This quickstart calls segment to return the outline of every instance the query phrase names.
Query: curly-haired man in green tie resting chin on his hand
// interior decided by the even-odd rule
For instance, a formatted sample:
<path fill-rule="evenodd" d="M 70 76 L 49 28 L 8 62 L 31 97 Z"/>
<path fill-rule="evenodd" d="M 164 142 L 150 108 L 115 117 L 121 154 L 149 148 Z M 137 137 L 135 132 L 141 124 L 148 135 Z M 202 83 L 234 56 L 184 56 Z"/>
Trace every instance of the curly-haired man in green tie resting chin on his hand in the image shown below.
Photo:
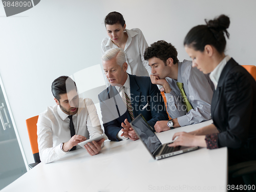
<path fill-rule="evenodd" d="M 214 84 L 192 62 L 177 58 L 176 48 L 164 40 L 154 42 L 144 52 L 151 67 L 151 81 L 163 86 L 167 112 L 172 120 L 157 121 L 156 132 L 211 119 L 210 103 Z"/>

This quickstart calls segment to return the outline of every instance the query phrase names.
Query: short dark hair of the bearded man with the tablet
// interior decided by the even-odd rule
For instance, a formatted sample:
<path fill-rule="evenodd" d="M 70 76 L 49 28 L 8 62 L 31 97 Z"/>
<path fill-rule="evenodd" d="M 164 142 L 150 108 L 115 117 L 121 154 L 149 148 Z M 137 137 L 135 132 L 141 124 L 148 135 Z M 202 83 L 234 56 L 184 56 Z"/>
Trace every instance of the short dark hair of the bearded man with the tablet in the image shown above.
<path fill-rule="evenodd" d="M 59 95 L 66 94 L 73 89 L 76 89 L 76 83 L 68 76 L 60 76 L 52 82 L 52 94 L 58 101 Z"/>

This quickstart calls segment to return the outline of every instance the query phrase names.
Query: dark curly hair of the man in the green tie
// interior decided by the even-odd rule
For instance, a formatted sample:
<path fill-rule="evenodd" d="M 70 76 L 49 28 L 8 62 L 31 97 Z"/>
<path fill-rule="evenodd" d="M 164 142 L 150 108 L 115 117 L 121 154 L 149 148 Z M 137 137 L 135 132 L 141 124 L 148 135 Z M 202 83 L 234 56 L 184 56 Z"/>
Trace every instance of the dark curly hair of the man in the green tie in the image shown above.
<path fill-rule="evenodd" d="M 165 65 L 166 65 L 166 60 L 168 58 L 172 58 L 174 60 L 174 64 L 176 64 L 179 61 L 177 56 L 178 56 L 178 52 L 176 48 L 172 44 L 164 40 L 159 40 L 157 42 L 154 42 L 154 44 L 151 44 L 150 47 L 146 48 L 144 52 L 145 60 L 151 59 L 153 57 L 157 57 L 162 61 L 164 61 Z"/>

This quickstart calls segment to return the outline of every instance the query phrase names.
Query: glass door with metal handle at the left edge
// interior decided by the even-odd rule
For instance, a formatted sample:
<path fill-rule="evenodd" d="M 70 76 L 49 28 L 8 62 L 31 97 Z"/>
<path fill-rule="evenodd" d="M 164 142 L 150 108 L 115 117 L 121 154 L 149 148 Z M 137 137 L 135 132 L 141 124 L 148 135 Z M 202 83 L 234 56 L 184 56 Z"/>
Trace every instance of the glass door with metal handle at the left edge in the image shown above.
<path fill-rule="evenodd" d="M 0 77 L 0 190 L 25 174 L 26 158 Z M 24 122 L 25 123 L 25 122 Z M 23 153 L 22 153 L 23 152 Z"/>

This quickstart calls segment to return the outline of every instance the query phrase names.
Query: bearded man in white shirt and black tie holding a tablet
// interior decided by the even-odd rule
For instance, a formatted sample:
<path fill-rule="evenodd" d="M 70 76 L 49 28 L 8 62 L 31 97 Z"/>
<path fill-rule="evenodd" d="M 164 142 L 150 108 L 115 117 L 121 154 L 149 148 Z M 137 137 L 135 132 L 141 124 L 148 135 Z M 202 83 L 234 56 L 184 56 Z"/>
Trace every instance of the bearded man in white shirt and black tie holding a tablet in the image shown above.
<path fill-rule="evenodd" d="M 75 82 L 60 76 L 52 83 L 56 105 L 48 106 L 37 121 L 37 142 L 41 162 L 56 161 L 78 143 L 103 133 L 95 105 L 91 99 L 79 98 Z M 72 130 L 72 131 L 71 131 Z M 96 155 L 104 139 L 84 145 L 88 153 Z"/>

